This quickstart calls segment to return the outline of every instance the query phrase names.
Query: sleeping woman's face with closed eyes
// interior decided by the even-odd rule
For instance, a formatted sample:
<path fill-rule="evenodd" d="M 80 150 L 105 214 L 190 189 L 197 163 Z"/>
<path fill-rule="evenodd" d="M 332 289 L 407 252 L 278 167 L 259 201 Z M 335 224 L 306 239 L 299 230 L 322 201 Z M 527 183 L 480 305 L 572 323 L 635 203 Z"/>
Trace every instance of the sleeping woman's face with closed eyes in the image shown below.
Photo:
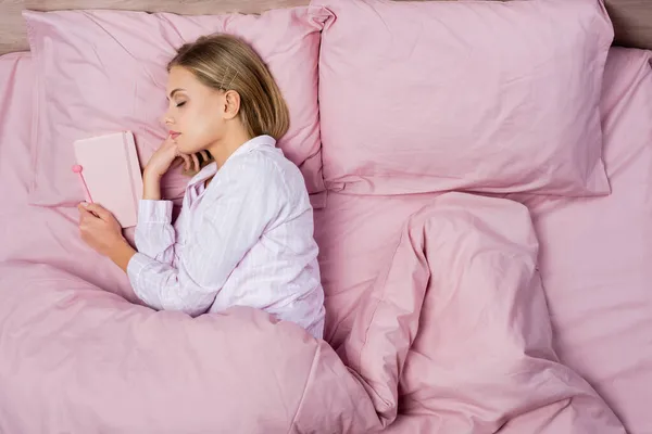
<path fill-rule="evenodd" d="M 224 135 L 224 92 L 212 89 L 181 66 L 173 66 L 167 78 L 170 100 L 164 123 L 180 152 L 208 150 Z"/>

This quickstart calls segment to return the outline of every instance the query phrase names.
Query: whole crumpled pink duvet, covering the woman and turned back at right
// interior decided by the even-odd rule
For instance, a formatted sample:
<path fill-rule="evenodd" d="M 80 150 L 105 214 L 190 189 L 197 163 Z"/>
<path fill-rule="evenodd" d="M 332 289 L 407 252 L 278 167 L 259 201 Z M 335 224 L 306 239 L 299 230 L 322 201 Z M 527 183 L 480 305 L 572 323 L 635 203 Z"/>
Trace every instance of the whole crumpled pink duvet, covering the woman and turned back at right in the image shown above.
<path fill-rule="evenodd" d="M 557 360 L 537 251 L 523 205 L 440 195 L 337 348 L 254 309 L 156 312 L 9 258 L 0 432 L 624 433 Z"/>

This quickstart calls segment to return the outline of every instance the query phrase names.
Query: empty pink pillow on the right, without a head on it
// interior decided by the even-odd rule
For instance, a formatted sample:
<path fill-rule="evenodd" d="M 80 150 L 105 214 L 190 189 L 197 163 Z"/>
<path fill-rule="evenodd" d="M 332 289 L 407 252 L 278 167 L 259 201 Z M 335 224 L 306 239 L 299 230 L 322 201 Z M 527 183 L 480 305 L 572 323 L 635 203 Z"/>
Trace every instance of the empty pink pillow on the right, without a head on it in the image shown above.
<path fill-rule="evenodd" d="M 335 15 L 319 58 L 327 187 L 610 192 L 600 1 L 314 3 Z"/>

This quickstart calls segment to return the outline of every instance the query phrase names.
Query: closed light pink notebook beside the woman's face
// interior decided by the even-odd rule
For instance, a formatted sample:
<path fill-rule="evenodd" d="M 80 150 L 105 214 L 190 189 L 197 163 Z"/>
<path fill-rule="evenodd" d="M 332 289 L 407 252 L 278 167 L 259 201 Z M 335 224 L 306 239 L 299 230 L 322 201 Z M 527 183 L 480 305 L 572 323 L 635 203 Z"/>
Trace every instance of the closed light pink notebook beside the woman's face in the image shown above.
<path fill-rule="evenodd" d="M 123 228 L 136 226 L 142 175 L 130 131 L 77 140 L 77 164 L 92 202 L 109 209 Z"/>

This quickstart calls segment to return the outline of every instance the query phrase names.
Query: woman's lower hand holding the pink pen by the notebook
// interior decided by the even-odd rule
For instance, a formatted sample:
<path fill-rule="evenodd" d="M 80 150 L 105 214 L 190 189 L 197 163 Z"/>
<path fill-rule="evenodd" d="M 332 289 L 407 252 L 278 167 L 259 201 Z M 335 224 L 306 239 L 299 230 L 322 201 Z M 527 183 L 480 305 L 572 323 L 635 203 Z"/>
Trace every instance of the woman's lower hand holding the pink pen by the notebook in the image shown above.
<path fill-rule="evenodd" d="M 127 241 L 122 234 L 122 227 L 106 208 L 98 204 L 83 203 L 79 208 L 79 234 L 96 252 L 110 256 L 121 243 Z"/>

